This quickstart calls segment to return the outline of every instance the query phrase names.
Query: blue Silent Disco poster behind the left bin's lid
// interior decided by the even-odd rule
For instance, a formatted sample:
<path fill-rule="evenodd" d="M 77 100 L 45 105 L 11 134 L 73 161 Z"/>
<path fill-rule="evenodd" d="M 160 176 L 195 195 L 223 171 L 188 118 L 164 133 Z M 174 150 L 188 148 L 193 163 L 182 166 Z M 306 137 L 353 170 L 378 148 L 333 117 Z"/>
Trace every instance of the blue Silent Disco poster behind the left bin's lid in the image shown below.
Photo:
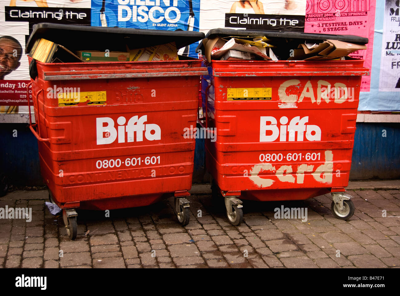
<path fill-rule="evenodd" d="M 92 26 L 199 30 L 200 0 L 92 0 Z M 179 50 L 197 57 L 197 44 Z"/>

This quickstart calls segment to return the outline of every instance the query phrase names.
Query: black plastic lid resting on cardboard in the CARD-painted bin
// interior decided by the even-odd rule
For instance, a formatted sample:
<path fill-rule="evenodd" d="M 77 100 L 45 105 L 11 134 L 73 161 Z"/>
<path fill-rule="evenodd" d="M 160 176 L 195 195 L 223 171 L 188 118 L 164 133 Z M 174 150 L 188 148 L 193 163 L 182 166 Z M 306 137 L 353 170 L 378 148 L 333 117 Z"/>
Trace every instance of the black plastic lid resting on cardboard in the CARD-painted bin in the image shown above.
<path fill-rule="evenodd" d="M 308 42 L 324 41 L 326 39 L 333 39 L 356 44 L 367 44 L 368 38 L 354 36 L 354 35 L 334 35 L 334 34 L 318 34 L 318 33 L 302 33 L 290 31 L 252 31 L 252 30 L 235 30 L 226 28 L 217 28 L 208 31 L 206 38 L 214 38 L 216 35 L 220 37 L 228 36 L 266 36 L 268 39 L 292 39 L 293 41 Z M 287 42 L 287 41 L 286 41 Z"/>

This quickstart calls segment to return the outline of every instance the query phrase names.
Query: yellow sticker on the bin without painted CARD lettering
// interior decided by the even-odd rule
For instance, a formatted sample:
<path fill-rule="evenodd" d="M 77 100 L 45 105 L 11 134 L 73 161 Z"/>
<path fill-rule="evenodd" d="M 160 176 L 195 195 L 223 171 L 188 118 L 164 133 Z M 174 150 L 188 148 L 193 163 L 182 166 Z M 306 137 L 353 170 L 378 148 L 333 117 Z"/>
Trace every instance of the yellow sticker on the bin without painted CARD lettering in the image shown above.
<path fill-rule="evenodd" d="M 106 91 L 72 91 L 58 93 L 58 106 L 74 106 L 78 103 L 87 105 L 103 105 L 106 103 Z"/>

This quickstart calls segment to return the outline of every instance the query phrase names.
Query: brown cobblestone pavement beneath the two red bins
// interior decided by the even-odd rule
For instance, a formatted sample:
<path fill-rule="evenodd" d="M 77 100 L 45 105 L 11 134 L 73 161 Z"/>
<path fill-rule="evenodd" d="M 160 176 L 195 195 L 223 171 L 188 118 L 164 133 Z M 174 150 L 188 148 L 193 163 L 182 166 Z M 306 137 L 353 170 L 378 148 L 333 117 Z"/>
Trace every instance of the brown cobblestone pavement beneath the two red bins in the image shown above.
<path fill-rule="evenodd" d="M 32 221 L 0 219 L 0 267 L 400 267 L 400 190 L 348 191 L 356 207 L 349 221 L 333 217 L 330 195 L 306 201 L 244 201 L 244 223 L 234 227 L 224 209 L 212 205 L 209 188 L 192 189 L 186 227 L 178 223 L 171 198 L 112 210 L 110 218 L 104 211 L 78 211 L 75 241 L 66 235 L 62 217 L 51 215 L 44 205 L 47 191 L 8 193 L 0 198 L 0 208 L 30 207 Z M 308 221 L 275 219 L 274 209 L 281 205 L 307 207 Z"/>

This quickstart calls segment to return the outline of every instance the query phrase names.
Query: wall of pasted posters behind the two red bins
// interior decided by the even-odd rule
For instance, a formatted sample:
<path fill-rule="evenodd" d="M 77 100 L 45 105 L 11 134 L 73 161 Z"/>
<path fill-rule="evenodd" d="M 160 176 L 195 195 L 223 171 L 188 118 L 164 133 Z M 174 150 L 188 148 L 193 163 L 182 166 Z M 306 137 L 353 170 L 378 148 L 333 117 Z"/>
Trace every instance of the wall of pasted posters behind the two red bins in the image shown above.
<path fill-rule="evenodd" d="M 367 37 L 359 110 L 400 110 L 398 0 L 0 0 L 0 113 L 27 113 L 26 41 L 40 22 L 156 30 L 289 30 Z M 334 38 L 332 38 L 334 39 Z M 68 44 L 65 44 L 68 48 Z M 179 53 L 196 57 L 197 44 Z"/>

